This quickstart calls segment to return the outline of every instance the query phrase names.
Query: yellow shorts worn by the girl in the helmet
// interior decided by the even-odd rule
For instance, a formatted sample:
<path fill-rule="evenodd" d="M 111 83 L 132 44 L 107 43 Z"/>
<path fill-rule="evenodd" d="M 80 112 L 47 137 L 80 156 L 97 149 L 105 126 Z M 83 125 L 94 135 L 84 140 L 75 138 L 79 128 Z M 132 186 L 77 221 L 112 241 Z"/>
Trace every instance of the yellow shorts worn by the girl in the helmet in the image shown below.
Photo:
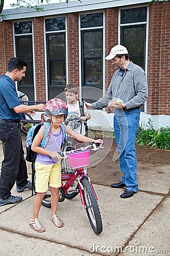
<path fill-rule="evenodd" d="M 36 192 L 44 193 L 48 187 L 61 187 L 61 161 L 55 164 L 40 164 L 35 162 Z"/>

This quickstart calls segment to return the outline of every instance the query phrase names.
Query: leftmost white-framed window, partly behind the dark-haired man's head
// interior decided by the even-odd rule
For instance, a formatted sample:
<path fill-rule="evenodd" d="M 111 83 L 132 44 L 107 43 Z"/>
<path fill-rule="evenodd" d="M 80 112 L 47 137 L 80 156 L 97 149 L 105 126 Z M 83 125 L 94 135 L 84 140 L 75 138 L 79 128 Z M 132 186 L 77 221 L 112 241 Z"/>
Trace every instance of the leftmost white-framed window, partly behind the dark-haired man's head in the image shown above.
<path fill-rule="evenodd" d="M 25 77 L 18 82 L 18 90 L 27 94 L 29 100 L 34 100 L 33 84 L 33 46 L 32 21 L 14 22 L 16 57 L 22 58 L 28 65 Z"/>

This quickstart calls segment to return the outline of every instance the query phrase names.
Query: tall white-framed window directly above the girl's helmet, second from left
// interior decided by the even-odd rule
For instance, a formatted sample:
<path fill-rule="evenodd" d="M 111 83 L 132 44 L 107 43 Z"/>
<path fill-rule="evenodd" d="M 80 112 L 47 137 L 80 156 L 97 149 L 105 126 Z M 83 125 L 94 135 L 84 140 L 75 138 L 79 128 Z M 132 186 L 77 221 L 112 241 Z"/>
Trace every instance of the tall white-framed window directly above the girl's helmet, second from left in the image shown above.
<path fill-rule="evenodd" d="M 66 20 L 45 19 L 48 98 L 62 93 L 66 86 Z"/>

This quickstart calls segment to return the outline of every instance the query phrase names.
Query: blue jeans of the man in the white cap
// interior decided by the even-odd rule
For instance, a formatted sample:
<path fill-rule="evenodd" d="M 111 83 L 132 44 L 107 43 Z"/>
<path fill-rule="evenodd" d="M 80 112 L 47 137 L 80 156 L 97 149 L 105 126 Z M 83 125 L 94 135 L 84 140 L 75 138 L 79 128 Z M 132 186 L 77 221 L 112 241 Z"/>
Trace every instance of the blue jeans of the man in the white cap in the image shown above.
<path fill-rule="evenodd" d="M 114 110 L 114 134 L 119 153 L 120 168 L 124 174 L 122 182 L 126 184 L 126 189 L 134 192 L 138 191 L 135 139 L 140 114 L 140 108 L 130 109 L 125 112 L 122 109 Z"/>

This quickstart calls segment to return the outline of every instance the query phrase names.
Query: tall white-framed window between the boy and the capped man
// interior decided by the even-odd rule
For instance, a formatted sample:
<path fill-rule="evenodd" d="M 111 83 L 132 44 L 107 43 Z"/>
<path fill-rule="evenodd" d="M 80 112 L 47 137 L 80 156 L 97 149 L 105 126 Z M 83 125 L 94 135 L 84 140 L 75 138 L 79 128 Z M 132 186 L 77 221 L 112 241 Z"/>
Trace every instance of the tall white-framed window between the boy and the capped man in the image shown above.
<path fill-rule="evenodd" d="M 81 14 L 80 36 L 82 87 L 90 86 L 101 89 L 99 95 L 101 97 L 103 90 L 103 13 Z M 82 90 L 83 98 L 84 95 Z"/>

